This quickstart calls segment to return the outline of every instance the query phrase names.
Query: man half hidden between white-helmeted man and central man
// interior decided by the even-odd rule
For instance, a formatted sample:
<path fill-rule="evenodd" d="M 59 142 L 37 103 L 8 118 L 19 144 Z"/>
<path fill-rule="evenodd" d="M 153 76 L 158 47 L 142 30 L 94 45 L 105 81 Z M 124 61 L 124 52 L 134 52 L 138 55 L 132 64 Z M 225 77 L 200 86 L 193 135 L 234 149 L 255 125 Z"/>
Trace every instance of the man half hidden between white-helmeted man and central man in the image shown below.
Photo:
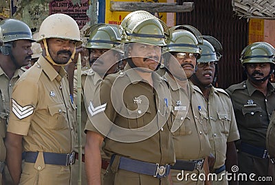
<path fill-rule="evenodd" d="M 99 87 L 102 79 L 111 73 L 116 73 L 120 69 L 120 59 L 122 58 L 122 53 L 118 49 L 113 49 L 120 45 L 121 36 L 122 36 L 122 27 L 119 25 L 111 24 L 96 24 L 92 27 L 89 27 L 89 32 L 86 33 L 86 36 L 89 36 L 86 48 L 89 50 L 89 65 L 91 69 L 87 66 L 83 67 L 81 71 L 81 87 L 82 87 L 82 98 L 81 98 L 81 125 L 82 130 L 82 146 L 83 151 L 86 143 L 86 134 L 84 133 L 85 124 L 87 122 L 87 110 L 85 108 L 85 103 L 83 99 L 83 92 L 85 90 L 85 83 L 87 84 L 87 90 L 89 90 L 89 99 L 93 99 L 94 92 Z M 109 49 L 113 49 L 109 51 Z M 111 56 L 109 59 L 104 59 L 102 54 L 106 53 L 106 56 Z M 100 58 L 102 56 L 102 58 Z M 98 60 L 98 58 L 100 58 Z M 74 73 L 74 100 L 77 100 L 77 71 Z M 76 147 L 76 164 L 73 166 L 73 178 L 72 184 L 77 184 L 78 180 L 78 149 Z M 102 155 L 102 178 L 105 170 L 109 165 L 109 158 L 104 154 Z M 81 157 L 82 164 L 82 184 L 87 184 L 87 178 L 85 174 L 85 154 Z"/>

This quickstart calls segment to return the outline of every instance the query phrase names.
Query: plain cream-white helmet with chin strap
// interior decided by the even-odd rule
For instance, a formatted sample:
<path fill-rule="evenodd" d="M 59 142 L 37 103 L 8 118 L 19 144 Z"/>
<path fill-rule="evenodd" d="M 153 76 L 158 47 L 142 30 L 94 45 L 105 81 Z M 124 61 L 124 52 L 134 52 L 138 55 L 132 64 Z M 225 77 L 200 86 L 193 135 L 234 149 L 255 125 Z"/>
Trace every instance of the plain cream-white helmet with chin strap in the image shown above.
<path fill-rule="evenodd" d="M 66 64 L 56 64 L 47 48 L 47 38 L 61 38 L 65 40 L 74 40 L 76 41 L 76 46 L 81 45 L 82 41 L 80 40 L 80 30 L 78 28 L 78 24 L 74 21 L 74 18 L 68 16 L 66 14 L 52 14 L 47 16 L 45 20 L 41 23 L 41 27 L 39 29 L 39 39 L 36 42 L 43 42 L 45 46 L 46 56 L 45 58 L 56 66 L 65 66 L 69 62 L 74 60 L 74 55 L 76 53 L 76 47 L 74 48 L 74 52 L 72 53 L 71 59 Z"/>

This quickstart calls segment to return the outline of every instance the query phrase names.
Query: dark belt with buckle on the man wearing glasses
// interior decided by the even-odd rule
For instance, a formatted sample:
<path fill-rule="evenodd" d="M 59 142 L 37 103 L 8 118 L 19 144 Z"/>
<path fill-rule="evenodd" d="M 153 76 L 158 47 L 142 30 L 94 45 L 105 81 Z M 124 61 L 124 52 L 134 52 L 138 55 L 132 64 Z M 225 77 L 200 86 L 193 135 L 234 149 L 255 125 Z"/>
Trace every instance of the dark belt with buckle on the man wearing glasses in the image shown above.
<path fill-rule="evenodd" d="M 204 159 L 201 160 L 177 160 L 171 169 L 184 170 L 184 171 L 194 171 L 195 169 L 201 170 L 203 168 Z"/>

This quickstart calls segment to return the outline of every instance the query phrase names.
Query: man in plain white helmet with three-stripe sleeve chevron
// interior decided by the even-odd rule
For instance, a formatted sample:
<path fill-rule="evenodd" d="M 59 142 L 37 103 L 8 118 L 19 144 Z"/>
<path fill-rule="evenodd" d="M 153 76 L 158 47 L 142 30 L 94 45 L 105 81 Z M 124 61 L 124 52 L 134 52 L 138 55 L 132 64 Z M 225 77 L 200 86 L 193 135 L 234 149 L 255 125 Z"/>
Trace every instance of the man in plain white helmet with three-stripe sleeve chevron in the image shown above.
<path fill-rule="evenodd" d="M 63 66 L 74 58 L 80 32 L 73 18 L 53 14 L 41 24 L 39 36 L 42 56 L 12 92 L 5 140 L 8 169 L 14 184 L 71 184 L 76 107 Z"/>

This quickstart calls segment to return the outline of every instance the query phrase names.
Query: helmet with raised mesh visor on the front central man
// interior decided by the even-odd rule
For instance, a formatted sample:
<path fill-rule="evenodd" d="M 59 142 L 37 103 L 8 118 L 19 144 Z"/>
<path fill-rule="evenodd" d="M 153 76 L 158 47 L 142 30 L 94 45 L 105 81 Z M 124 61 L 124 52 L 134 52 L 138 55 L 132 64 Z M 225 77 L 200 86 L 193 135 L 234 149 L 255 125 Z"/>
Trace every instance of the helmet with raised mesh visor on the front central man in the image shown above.
<path fill-rule="evenodd" d="M 120 25 L 124 29 L 124 43 L 142 42 L 165 46 L 169 36 L 166 23 L 142 10 L 128 14 Z"/>

